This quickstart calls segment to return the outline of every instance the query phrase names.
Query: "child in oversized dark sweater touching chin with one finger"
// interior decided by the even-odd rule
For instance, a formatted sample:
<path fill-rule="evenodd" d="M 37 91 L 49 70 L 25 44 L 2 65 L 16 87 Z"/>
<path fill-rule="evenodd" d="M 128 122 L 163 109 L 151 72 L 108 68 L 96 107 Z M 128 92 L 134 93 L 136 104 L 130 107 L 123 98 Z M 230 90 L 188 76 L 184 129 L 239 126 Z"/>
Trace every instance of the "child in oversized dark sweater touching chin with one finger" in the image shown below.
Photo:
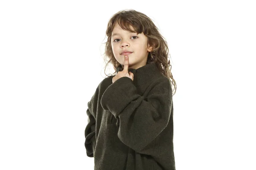
<path fill-rule="evenodd" d="M 105 56 L 116 74 L 103 79 L 87 103 L 84 145 L 94 170 L 175 170 L 176 83 L 167 42 L 135 10 L 114 14 L 106 34 Z"/>

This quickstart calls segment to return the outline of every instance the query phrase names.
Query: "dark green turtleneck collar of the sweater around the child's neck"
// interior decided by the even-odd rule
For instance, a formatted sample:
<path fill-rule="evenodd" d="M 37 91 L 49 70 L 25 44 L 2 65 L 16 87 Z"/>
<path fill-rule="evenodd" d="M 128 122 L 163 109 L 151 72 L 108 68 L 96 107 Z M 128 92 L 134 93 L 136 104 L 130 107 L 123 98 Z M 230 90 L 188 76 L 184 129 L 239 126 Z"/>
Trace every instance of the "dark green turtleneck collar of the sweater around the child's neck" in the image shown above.
<path fill-rule="evenodd" d="M 122 65 L 119 64 L 116 68 L 116 74 L 118 71 L 122 71 Z M 155 62 L 148 63 L 140 68 L 128 68 L 128 72 L 131 71 L 134 74 L 134 85 L 136 86 L 143 86 L 146 85 L 148 81 L 159 77 L 161 72 L 158 70 L 157 65 Z"/>

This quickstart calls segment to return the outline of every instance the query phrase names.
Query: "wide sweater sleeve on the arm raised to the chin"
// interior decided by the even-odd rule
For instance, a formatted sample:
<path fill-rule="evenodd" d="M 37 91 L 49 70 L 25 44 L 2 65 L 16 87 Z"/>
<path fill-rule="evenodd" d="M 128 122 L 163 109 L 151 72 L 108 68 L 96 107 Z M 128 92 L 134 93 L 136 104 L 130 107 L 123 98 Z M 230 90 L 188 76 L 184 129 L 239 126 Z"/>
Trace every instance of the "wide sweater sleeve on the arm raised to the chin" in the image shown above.
<path fill-rule="evenodd" d="M 169 122 L 172 88 L 168 80 L 155 80 L 140 95 L 129 77 L 121 77 L 102 95 L 102 108 L 117 119 L 119 139 L 138 153 L 152 153 L 154 139 Z"/>

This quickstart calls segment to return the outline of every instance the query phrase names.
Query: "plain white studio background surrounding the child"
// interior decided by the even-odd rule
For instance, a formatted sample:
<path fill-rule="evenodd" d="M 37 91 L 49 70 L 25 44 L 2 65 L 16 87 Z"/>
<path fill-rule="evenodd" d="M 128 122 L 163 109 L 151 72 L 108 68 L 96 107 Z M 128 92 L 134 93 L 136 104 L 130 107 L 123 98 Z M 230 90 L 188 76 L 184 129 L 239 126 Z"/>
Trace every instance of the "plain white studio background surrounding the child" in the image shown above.
<path fill-rule="evenodd" d="M 169 45 L 176 169 L 256 170 L 255 8 L 253 0 L 0 1 L 0 169 L 93 170 L 84 129 L 106 77 L 107 23 L 134 9 Z"/>

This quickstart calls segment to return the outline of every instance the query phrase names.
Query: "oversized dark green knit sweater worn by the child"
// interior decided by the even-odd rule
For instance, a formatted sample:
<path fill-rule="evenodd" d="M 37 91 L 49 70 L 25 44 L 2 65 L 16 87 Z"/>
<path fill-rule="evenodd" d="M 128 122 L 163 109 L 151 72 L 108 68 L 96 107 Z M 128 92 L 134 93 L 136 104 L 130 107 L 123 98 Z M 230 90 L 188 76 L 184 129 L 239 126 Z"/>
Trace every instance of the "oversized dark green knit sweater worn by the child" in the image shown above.
<path fill-rule="evenodd" d="M 87 156 L 94 170 L 175 170 L 171 81 L 154 62 L 128 71 L 134 80 L 103 79 L 87 104 Z"/>

